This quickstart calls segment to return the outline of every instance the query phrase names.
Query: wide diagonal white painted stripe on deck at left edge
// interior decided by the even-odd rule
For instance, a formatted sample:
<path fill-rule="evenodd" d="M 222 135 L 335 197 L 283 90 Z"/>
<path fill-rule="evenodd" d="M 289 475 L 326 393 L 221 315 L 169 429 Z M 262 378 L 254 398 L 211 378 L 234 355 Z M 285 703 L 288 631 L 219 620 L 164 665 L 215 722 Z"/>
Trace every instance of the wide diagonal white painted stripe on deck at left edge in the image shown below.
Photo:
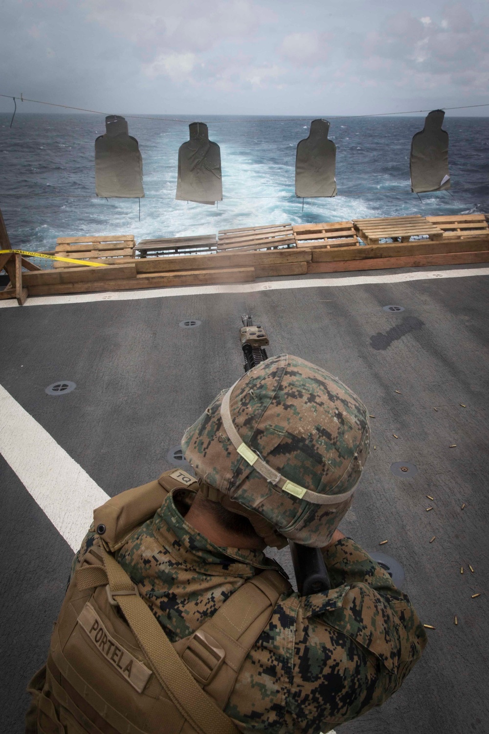
<path fill-rule="evenodd" d="M 78 551 L 92 524 L 93 509 L 109 495 L 1 385 L 0 454 L 56 530 Z"/>

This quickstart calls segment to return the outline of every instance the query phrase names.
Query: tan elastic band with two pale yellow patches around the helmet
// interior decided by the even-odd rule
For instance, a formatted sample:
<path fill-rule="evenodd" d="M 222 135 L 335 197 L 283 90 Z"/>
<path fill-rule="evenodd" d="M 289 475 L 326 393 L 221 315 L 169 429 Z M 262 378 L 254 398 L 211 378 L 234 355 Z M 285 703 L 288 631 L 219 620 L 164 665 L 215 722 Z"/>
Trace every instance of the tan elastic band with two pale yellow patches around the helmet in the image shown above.
<path fill-rule="evenodd" d="M 280 472 L 271 468 L 271 466 L 260 459 L 258 454 L 255 454 L 252 448 L 246 446 L 246 443 L 243 442 L 238 431 L 235 429 L 235 425 L 233 424 L 231 418 L 231 410 L 229 408 L 232 390 L 235 389 L 236 385 L 238 385 L 238 382 L 240 382 L 239 379 L 235 382 L 234 385 L 229 388 L 226 395 L 222 399 L 221 419 L 224 429 L 227 432 L 227 435 L 229 436 L 232 445 L 235 447 L 236 451 L 238 451 L 238 454 L 240 454 L 240 457 L 243 457 L 243 459 L 248 462 L 249 465 L 254 468 L 254 470 L 265 477 L 268 482 L 271 482 L 271 484 L 273 484 L 275 487 L 279 487 L 282 492 L 287 492 L 288 494 L 293 495 L 294 497 L 298 497 L 301 500 L 306 500 L 307 502 L 311 502 L 312 504 L 319 505 L 337 505 L 342 504 L 342 502 L 348 500 L 351 495 L 353 495 L 355 487 L 352 487 L 350 490 L 348 490 L 348 492 L 344 492 L 341 495 L 322 495 L 318 492 L 312 492 L 312 490 L 307 490 L 306 487 L 301 487 L 300 484 L 290 482 L 290 479 L 286 479 L 284 476 L 282 476 Z"/>

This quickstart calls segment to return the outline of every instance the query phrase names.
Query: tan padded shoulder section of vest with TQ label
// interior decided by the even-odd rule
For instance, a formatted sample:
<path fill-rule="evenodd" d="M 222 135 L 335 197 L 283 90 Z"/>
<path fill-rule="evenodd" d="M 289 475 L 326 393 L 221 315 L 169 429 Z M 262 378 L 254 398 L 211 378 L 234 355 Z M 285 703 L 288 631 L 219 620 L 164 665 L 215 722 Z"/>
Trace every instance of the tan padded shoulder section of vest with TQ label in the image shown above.
<path fill-rule="evenodd" d="M 182 469 L 172 469 L 155 482 L 121 492 L 93 511 L 95 531 L 110 551 L 118 551 L 133 531 L 155 514 L 166 495 L 185 488 L 196 491 L 196 479 Z"/>

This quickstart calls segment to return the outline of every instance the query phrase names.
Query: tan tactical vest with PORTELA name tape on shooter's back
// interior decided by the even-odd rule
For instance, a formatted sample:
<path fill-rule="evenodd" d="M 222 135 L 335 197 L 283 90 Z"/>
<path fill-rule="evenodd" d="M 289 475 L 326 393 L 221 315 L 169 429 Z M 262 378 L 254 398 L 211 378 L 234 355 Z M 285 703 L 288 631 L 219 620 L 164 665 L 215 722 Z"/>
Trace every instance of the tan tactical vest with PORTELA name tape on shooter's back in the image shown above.
<path fill-rule="evenodd" d="M 95 510 L 98 542 L 80 559 L 48 661 L 29 683 L 27 734 L 238 734 L 224 707 L 290 586 L 265 570 L 191 636 L 169 642 L 113 553 L 180 487 L 197 485 L 180 469 L 165 472 Z"/>

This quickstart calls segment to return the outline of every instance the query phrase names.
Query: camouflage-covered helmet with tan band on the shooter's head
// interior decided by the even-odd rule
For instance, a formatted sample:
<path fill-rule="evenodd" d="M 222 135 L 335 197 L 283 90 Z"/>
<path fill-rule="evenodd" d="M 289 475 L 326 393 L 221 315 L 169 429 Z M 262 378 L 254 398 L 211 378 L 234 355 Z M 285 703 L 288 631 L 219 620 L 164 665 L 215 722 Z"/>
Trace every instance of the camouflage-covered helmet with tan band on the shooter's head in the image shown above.
<path fill-rule="evenodd" d="M 271 357 L 223 390 L 185 432 L 206 496 L 249 517 L 267 545 L 326 545 L 369 452 L 367 409 L 299 357 Z"/>

